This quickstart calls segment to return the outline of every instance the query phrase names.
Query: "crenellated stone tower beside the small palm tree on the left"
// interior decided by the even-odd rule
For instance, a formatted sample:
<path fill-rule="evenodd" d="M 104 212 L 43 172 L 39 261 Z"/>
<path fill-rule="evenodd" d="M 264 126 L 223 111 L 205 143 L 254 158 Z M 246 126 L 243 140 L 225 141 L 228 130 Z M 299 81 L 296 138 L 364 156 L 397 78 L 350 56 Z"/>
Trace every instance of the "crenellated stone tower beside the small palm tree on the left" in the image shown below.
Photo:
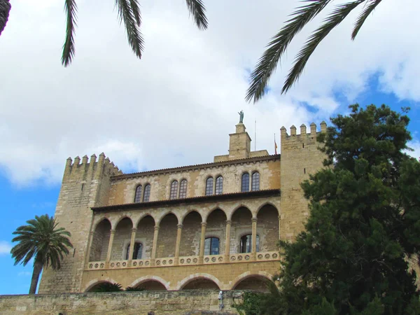
<path fill-rule="evenodd" d="M 110 178 L 119 174 L 123 172 L 104 153 L 98 159 L 92 155 L 90 160 L 85 155 L 81 163 L 78 156 L 66 160 L 55 218 L 59 227 L 71 232 L 73 249 L 59 272 L 44 269 L 39 293 L 79 292 L 92 222 L 90 208 L 106 204 Z"/>

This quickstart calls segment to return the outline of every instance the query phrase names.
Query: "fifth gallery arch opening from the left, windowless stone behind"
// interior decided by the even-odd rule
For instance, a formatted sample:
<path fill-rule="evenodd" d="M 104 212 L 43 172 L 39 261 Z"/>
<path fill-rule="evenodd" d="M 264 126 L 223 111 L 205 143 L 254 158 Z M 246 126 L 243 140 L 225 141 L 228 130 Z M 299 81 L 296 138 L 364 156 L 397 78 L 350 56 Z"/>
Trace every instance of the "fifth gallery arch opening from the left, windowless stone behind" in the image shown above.
<path fill-rule="evenodd" d="M 202 217 L 197 211 L 192 211 L 183 219 L 180 256 L 198 255 L 200 248 Z"/>

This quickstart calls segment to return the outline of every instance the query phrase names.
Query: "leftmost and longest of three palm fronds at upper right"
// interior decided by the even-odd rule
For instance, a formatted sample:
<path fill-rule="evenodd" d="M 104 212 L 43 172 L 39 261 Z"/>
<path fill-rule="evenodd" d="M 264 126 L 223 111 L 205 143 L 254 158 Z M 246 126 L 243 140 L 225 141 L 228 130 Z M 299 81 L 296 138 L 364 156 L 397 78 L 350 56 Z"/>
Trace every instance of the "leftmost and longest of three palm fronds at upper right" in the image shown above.
<path fill-rule="evenodd" d="M 258 60 L 258 64 L 251 73 L 251 83 L 246 92 L 248 102 L 258 102 L 265 94 L 265 88 L 269 78 L 276 69 L 281 56 L 288 48 L 290 41 L 307 25 L 312 19 L 320 13 L 332 0 L 306 0 L 307 5 L 300 6 L 292 13 L 293 18 L 286 21 L 286 25 L 281 28 L 279 33 L 272 38 L 267 45 L 267 50 Z"/>

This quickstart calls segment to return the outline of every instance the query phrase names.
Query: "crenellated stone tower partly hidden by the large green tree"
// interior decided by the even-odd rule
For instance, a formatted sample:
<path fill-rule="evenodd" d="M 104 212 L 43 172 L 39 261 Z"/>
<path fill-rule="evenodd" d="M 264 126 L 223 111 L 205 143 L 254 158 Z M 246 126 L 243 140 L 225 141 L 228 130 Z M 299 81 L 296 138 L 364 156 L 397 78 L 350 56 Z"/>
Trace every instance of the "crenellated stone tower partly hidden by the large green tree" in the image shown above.
<path fill-rule="evenodd" d="M 327 124 L 321 123 L 321 132 L 326 132 Z M 309 215 L 308 201 L 304 198 L 300 183 L 309 179 L 323 166 L 325 154 L 318 150 L 321 146 L 316 141 L 320 132 L 311 123 L 307 133 L 305 125 L 290 127 L 290 135 L 281 127 L 281 239 L 292 241 L 302 231 Z"/>

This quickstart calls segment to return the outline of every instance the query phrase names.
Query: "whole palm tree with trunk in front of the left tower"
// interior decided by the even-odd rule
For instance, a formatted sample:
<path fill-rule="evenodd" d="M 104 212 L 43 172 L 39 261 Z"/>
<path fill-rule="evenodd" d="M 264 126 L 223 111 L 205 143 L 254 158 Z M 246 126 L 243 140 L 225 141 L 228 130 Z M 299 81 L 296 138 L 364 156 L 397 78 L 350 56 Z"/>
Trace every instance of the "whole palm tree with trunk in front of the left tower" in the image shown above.
<path fill-rule="evenodd" d="M 43 267 L 59 269 L 63 254 L 69 253 L 72 248 L 70 232 L 64 228 L 57 228 L 55 218 L 48 214 L 35 216 L 34 219 L 27 221 L 28 225 L 22 225 L 13 232 L 18 235 L 12 241 L 18 241 L 10 251 L 12 258 L 15 258 L 15 265 L 22 263 L 27 265 L 29 260 L 34 258 L 34 272 L 32 272 L 31 288 L 29 294 L 35 294 L 38 284 L 39 274 Z"/>

